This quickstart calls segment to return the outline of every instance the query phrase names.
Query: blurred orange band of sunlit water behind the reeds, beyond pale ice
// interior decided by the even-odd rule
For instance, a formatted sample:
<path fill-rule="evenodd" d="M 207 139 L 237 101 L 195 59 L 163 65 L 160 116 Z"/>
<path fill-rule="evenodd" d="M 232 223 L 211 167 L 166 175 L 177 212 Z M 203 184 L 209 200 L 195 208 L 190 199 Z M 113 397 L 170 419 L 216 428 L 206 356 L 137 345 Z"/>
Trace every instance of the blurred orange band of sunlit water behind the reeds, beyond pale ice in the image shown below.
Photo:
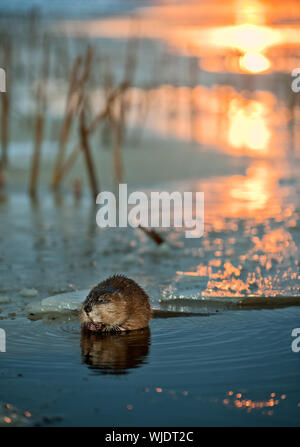
<path fill-rule="evenodd" d="M 151 97 L 146 118 L 141 108 Z M 97 96 L 93 95 L 96 100 Z M 289 112 L 271 92 L 237 92 L 215 85 L 162 85 L 128 92 L 130 124 L 163 137 L 197 142 L 233 155 L 284 157 L 289 138 Z"/>

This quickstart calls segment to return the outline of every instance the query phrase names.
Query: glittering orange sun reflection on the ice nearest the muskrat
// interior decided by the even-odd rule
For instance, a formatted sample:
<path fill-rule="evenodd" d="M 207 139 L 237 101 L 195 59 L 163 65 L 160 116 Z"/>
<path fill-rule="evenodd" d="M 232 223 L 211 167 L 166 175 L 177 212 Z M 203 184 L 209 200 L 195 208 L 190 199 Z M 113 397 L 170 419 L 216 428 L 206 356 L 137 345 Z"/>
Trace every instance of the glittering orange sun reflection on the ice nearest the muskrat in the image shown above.
<path fill-rule="evenodd" d="M 197 299 L 299 295 L 299 213 L 280 184 L 284 176 L 284 165 L 264 160 L 245 176 L 198 183 L 206 199 L 205 235 L 166 299 L 185 287 L 185 296 Z"/>

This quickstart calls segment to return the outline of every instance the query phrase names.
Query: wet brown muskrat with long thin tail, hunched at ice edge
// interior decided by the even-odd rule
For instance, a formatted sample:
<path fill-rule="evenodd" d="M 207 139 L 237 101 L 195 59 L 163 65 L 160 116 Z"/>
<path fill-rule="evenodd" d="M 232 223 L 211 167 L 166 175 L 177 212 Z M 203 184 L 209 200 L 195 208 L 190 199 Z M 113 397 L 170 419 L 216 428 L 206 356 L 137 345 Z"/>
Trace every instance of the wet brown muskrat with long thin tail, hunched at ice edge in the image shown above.
<path fill-rule="evenodd" d="M 143 329 L 151 318 L 208 315 L 151 309 L 147 293 L 124 275 L 113 275 L 93 287 L 80 310 L 81 326 L 91 332 Z"/>

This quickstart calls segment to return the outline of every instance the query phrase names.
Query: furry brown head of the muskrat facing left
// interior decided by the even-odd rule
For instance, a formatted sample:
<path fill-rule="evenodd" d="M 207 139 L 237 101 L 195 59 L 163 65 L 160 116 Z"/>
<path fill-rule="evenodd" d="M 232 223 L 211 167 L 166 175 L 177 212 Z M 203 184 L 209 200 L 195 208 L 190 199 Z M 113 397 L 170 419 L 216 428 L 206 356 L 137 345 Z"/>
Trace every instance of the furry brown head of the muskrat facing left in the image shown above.
<path fill-rule="evenodd" d="M 82 303 L 80 320 L 90 331 L 122 331 L 128 317 L 127 303 L 113 287 L 95 286 Z"/>

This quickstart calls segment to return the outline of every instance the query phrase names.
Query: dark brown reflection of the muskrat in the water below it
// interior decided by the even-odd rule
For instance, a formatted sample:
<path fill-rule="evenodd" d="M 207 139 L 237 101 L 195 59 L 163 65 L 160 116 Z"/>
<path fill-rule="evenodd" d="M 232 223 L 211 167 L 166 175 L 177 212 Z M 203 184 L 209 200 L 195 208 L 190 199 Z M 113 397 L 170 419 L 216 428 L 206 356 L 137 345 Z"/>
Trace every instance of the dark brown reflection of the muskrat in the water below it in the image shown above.
<path fill-rule="evenodd" d="M 150 329 L 119 332 L 81 332 L 83 363 L 102 374 L 126 374 L 145 363 L 150 346 Z"/>

